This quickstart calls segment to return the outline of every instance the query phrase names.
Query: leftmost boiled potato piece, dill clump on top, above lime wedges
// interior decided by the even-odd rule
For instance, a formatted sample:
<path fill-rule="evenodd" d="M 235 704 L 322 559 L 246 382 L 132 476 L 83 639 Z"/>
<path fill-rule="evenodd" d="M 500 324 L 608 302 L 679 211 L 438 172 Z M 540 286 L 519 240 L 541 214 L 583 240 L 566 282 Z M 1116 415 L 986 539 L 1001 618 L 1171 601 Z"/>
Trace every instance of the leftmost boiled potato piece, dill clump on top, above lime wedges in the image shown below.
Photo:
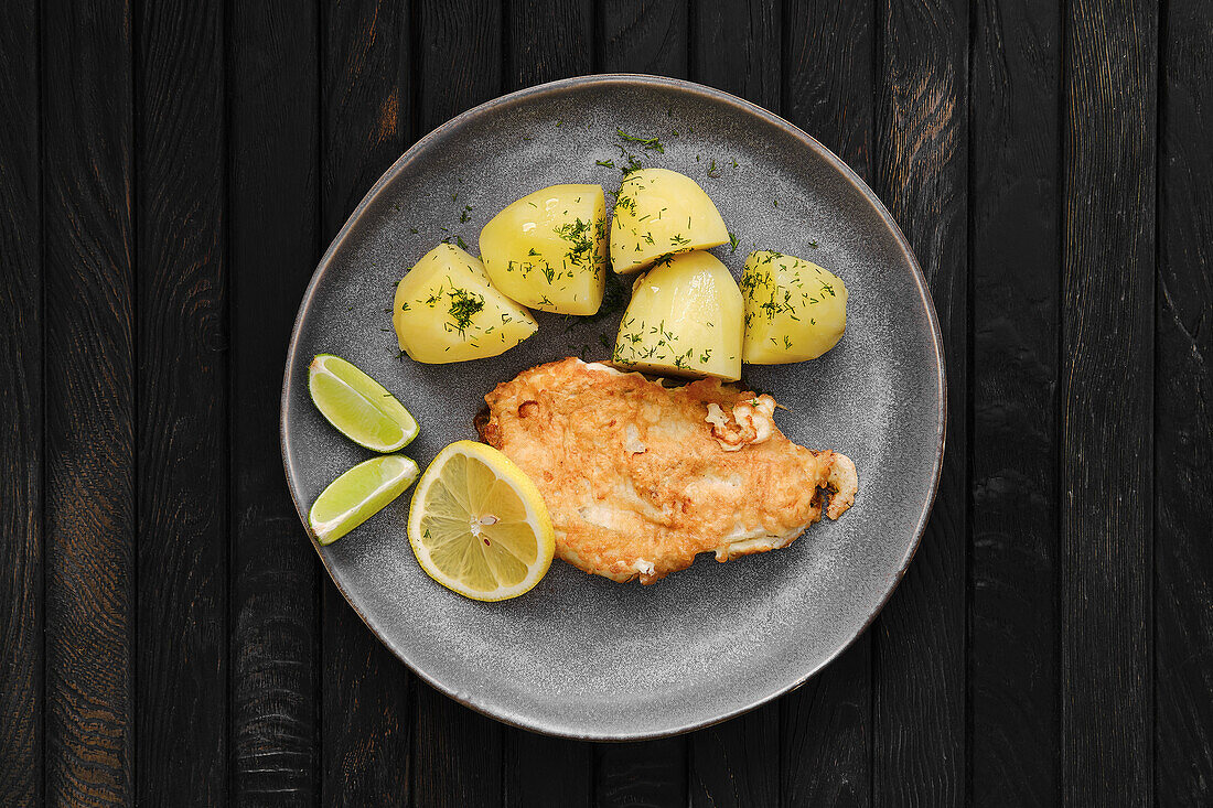
<path fill-rule="evenodd" d="M 539 328 L 492 288 L 479 258 L 452 244 L 427 252 L 397 284 L 392 325 L 400 349 L 427 364 L 496 357 Z"/>

